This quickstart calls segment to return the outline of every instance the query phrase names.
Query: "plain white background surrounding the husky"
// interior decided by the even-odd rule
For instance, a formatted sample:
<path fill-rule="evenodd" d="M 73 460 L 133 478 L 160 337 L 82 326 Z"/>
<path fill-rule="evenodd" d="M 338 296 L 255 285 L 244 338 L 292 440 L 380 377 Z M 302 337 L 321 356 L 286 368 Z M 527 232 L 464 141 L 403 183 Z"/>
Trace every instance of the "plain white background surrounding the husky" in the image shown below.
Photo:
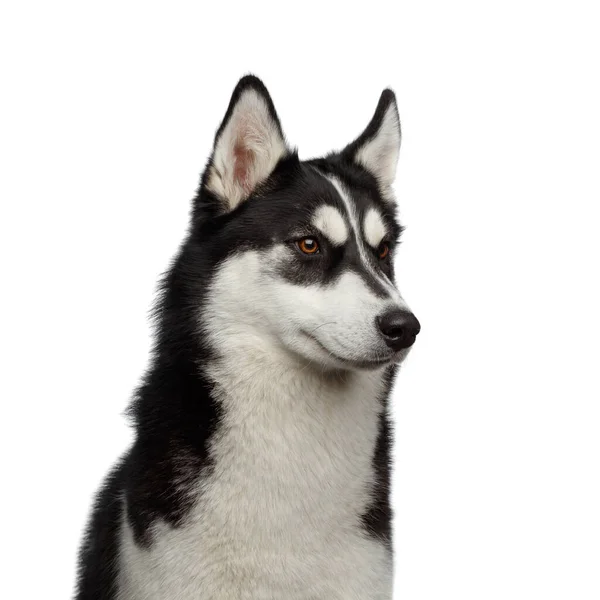
<path fill-rule="evenodd" d="M 594 4 L 5 3 L 0 597 L 71 593 L 157 278 L 252 71 L 302 157 L 397 93 L 423 331 L 393 401 L 396 597 L 600 598 Z"/>

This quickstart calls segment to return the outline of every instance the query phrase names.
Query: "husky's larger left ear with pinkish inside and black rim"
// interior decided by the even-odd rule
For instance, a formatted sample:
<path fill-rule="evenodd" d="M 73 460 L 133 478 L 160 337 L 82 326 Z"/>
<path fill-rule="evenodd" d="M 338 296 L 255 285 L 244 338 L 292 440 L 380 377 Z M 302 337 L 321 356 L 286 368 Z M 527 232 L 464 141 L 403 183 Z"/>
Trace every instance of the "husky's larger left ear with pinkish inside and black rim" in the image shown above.
<path fill-rule="evenodd" d="M 290 153 L 267 88 L 258 77 L 240 79 L 215 136 L 203 186 L 219 212 L 234 210 Z"/>

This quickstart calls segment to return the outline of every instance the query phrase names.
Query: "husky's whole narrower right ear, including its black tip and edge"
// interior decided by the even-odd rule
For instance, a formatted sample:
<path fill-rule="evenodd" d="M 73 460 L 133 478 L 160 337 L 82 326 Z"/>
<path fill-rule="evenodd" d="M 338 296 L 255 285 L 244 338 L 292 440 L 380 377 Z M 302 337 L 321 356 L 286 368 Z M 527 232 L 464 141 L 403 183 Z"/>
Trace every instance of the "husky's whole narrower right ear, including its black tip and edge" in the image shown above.
<path fill-rule="evenodd" d="M 342 155 L 375 175 L 384 197 L 390 195 L 390 186 L 396 178 L 400 154 L 400 118 L 396 96 L 392 90 L 383 90 L 375 114 L 367 128 Z"/>

